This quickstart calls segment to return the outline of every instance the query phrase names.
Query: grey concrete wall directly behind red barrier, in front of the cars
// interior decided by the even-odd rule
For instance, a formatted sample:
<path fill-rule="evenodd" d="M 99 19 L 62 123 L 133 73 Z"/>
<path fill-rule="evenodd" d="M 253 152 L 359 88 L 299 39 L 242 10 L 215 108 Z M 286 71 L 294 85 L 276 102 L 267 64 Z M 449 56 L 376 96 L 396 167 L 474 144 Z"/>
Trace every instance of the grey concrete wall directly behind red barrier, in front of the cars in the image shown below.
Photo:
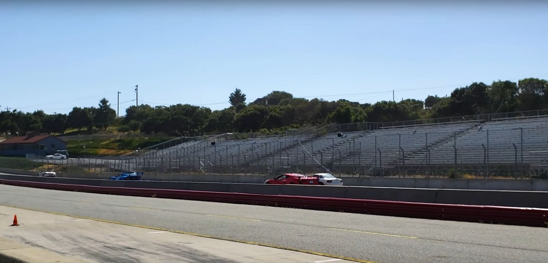
<path fill-rule="evenodd" d="M 114 181 L 97 179 L 44 178 L 25 175 L 0 175 L 0 179 L 108 187 L 160 188 L 193 191 L 255 193 L 260 195 L 338 197 L 419 203 L 548 208 L 548 192 L 535 191 L 454 190 L 366 186 L 330 187 L 310 185 L 239 184 L 226 182 Z"/>

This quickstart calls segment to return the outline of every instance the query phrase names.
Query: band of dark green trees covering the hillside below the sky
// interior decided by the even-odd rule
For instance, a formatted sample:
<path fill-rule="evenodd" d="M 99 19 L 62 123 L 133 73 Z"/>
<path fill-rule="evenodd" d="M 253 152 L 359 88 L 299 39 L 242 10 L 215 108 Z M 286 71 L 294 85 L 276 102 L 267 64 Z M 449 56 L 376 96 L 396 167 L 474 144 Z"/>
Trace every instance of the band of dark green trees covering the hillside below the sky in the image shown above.
<path fill-rule="evenodd" d="M 545 79 L 524 78 L 518 82 L 473 82 L 456 88 L 450 96 L 430 95 L 425 100 L 405 99 L 362 104 L 351 100 L 295 98 L 274 91 L 248 104 L 246 94 L 236 89 L 229 95 L 231 106 L 218 111 L 208 107 L 177 104 L 150 106 L 141 104 L 125 110 L 125 118 L 116 118 L 106 99 L 98 107 L 74 107 L 68 114 L 47 115 L 43 111 L 0 112 L 0 133 L 24 134 L 30 131 L 64 134 L 92 130 L 110 130 L 132 135 L 132 132 L 165 133 L 171 136 L 197 136 L 231 132 L 282 133 L 288 128 L 330 123 L 393 122 L 500 113 L 543 110 L 548 108 L 548 85 Z M 383 93 L 383 92 L 378 92 Z M 386 93 L 386 91 L 384 92 Z M 89 134 L 89 132 L 88 132 Z M 131 142 L 130 142 L 131 141 Z M 104 142 L 115 148 L 116 142 Z M 138 146 L 139 139 L 119 142 L 116 150 Z M 71 143 L 71 148 L 73 144 Z M 88 147 L 88 146 L 87 146 Z M 93 146 L 99 147 L 99 146 Z M 75 147 L 76 148 L 76 147 Z M 102 149 L 110 149 L 101 146 Z M 98 148 L 99 149 L 99 148 Z M 111 149 L 115 150 L 115 149 Z"/>

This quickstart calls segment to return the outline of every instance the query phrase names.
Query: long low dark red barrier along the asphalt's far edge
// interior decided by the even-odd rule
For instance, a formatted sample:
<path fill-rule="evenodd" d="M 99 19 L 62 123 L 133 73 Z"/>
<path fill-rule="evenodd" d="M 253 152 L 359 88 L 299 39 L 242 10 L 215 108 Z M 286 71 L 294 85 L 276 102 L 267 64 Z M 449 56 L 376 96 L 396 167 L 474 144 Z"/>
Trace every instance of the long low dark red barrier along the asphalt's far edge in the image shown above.
<path fill-rule="evenodd" d="M 432 204 L 367 199 L 306 197 L 283 195 L 256 195 L 250 193 L 205 192 L 170 189 L 102 187 L 87 185 L 50 184 L 0 179 L 1 184 L 45 188 L 64 191 L 104 193 L 110 195 L 143 196 L 172 199 L 189 199 L 221 203 L 269 205 L 301 209 L 344 211 L 347 213 L 404 216 L 484 222 L 494 224 L 546 227 L 548 209 L 494 207 L 482 205 Z"/>

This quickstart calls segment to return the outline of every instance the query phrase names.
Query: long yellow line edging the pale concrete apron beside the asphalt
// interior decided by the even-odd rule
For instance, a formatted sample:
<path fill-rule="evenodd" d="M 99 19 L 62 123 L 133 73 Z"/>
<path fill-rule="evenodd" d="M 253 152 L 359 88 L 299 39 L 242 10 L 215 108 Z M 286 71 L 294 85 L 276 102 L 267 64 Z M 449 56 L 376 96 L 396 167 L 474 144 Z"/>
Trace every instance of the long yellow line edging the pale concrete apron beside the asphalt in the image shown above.
<path fill-rule="evenodd" d="M 52 211 L 43 211 L 43 210 L 38 210 L 38 209 L 28 209 L 28 208 L 16 207 L 15 205 L 8 205 L 8 204 L 0 204 L 0 205 L 2 205 L 4 207 L 31 210 L 31 211 L 37 211 L 37 212 L 42 212 L 42 213 L 54 214 L 54 215 L 71 216 L 72 218 L 90 219 L 90 220 L 95 220 L 95 221 L 99 221 L 99 222 L 111 223 L 111 224 L 148 228 L 148 229 L 158 230 L 158 231 L 167 231 L 167 232 L 179 233 L 179 234 L 190 235 L 190 236 L 195 236 L 195 237 L 206 237 L 206 238 L 213 238 L 213 239 L 219 239 L 219 240 L 224 240 L 224 241 L 232 241 L 232 242 L 238 242 L 238 243 L 244 243 L 244 244 L 250 244 L 250 245 L 261 245 L 262 247 L 278 248 L 278 249 L 296 251 L 296 252 L 301 252 L 301 253 L 306 253 L 306 254 L 326 256 L 327 258 L 343 259 L 343 260 L 349 260 L 349 261 L 360 262 L 360 263 L 381 263 L 381 262 L 376 262 L 376 261 L 349 258 L 347 256 L 330 255 L 330 254 L 325 254 L 325 253 L 320 253 L 320 252 L 315 252 L 315 251 L 309 251 L 309 250 L 296 249 L 296 248 L 286 248 L 286 247 L 281 247 L 279 245 L 271 245 L 271 244 L 243 241 L 243 240 L 239 240 L 239 239 L 231 239 L 231 238 L 224 238 L 224 237 L 208 236 L 208 235 L 202 235 L 202 234 L 197 234 L 197 233 L 169 230 L 169 229 L 165 229 L 165 228 L 152 227 L 152 226 L 140 226 L 140 225 L 134 225 L 134 224 L 127 224 L 127 223 L 123 223 L 123 222 L 111 221 L 111 220 L 88 218 L 86 216 L 68 215 L 68 214 L 57 213 L 57 212 L 52 212 Z"/>

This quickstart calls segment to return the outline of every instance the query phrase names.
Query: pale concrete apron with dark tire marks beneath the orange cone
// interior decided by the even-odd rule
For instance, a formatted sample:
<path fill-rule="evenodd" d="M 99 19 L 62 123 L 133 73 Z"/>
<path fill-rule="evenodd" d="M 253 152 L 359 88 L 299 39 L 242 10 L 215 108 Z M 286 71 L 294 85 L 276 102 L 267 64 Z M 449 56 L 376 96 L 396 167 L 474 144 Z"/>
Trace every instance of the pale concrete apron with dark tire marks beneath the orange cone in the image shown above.
<path fill-rule="evenodd" d="M 0 225 L 0 236 L 87 262 L 351 262 L 279 248 L 0 206 L 1 221 L 13 219 L 14 214 L 18 216 L 20 226 Z"/>

